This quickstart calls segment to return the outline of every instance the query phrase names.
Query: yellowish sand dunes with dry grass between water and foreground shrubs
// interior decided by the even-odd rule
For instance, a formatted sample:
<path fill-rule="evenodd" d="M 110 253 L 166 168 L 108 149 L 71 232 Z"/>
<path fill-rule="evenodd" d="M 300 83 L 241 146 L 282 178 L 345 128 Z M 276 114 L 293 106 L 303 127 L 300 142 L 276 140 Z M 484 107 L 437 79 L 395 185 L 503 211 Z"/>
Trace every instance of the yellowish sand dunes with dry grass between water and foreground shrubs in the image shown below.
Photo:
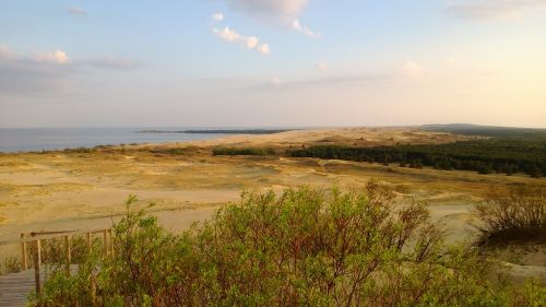
<path fill-rule="evenodd" d="M 92 153 L 0 154 L 0 259 L 16 253 L 13 243 L 22 232 L 111 225 L 123 214 L 123 201 L 129 194 L 139 198 L 134 210 L 154 203 L 150 211 L 162 225 L 180 232 L 195 221 L 209 219 L 223 204 L 238 201 L 246 189 L 281 191 L 301 185 L 348 189 L 363 187 L 370 179 L 391 186 L 401 199 L 429 203 L 432 219 L 449 229 L 450 241 L 468 240 L 475 234 L 470 226 L 471 210 L 491 187 L 545 180 L 344 161 L 211 154 L 212 147 L 218 145 L 283 150 L 312 144 L 371 146 L 467 139 L 416 128 L 340 128 L 132 145 L 123 150 L 106 147 Z M 170 149 L 181 149 L 182 154 L 169 154 Z M 524 275 L 543 272 L 520 271 Z"/>

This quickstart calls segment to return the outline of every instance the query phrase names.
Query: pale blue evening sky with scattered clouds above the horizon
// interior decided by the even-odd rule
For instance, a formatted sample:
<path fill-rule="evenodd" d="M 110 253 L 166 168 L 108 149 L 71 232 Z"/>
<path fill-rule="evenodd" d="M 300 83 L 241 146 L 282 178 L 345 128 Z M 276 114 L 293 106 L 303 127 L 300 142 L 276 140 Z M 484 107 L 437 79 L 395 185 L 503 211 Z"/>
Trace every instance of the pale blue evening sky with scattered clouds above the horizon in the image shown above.
<path fill-rule="evenodd" d="M 0 0 L 0 128 L 546 128 L 546 0 Z"/>

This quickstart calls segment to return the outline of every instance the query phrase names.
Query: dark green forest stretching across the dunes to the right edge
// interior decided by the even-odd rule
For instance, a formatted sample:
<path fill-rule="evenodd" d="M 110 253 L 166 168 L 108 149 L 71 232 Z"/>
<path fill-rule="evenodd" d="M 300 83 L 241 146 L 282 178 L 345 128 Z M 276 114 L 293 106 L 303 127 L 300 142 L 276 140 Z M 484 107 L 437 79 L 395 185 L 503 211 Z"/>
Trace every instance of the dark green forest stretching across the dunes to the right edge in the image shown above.
<path fill-rule="evenodd" d="M 523 173 L 546 175 L 546 137 L 502 137 L 448 144 L 349 147 L 319 145 L 287 151 L 292 157 L 319 157 L 391 164 L 402 167 L 424 166 L 446 170 L 475 170 L 479 174 Z"/>

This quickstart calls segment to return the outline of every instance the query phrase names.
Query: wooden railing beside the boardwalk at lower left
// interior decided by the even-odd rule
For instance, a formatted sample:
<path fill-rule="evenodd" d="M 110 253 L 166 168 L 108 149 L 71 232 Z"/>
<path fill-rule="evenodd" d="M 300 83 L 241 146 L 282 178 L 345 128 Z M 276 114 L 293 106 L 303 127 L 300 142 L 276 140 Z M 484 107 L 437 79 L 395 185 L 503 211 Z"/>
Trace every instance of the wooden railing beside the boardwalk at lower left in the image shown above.
<path fill-rule="evenodd" d="M 104 241 L 104 256 L 114 256 L 114 240 L 111 237 L 111 228 L 99 228 L 91 231 L 61 231 L 61 232 L 32 232 L 21 234 L 21 267 L 22 270 L 28 270 L 27 247 L 32 248 L 32 261 L 34 264 L 34 279 L 36 281 L 36 294 L 41 293 L 41 243 L 49 239 L 63 238 L 64 239 L 64 270 L 67 275 L 70 275 L 71 251 L 70 239 L 72 236 L 85 235 L 87 243 L 87 251 L 91 253 L 93 250 L 93 235 L 102 234 Z"/>

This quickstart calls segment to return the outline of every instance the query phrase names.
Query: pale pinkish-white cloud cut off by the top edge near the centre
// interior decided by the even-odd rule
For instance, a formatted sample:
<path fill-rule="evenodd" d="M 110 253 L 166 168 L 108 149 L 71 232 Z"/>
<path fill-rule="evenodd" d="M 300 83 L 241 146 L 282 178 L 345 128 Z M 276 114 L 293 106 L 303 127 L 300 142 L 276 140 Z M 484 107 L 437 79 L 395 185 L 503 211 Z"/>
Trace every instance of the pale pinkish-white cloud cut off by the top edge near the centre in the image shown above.
<path fill-rule="evenodd" d="M 233 10 L 249 14 L 265 14 L 281 19 L 297 16 L 308 0 L 224 0 Z"/>

